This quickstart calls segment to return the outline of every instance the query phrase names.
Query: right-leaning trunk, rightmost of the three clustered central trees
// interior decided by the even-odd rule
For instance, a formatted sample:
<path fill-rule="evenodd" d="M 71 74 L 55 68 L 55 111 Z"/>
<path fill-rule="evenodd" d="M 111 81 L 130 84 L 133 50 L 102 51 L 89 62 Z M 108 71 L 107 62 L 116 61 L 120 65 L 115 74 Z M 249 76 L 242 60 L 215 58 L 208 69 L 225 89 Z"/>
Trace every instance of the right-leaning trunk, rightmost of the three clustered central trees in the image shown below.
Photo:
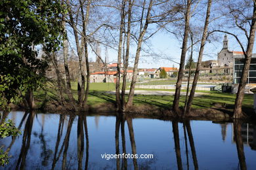
<path fill-rule="evenodd" d="M 148 24 L 149 24 L 149 19 L 150 19 L 150 11 L 152 9 L 152 5 L 153 5 L 153 1 L 150 0 L 150 4 L 148 6 L 148 12 L 146 14 L 146 22 L 145 22 L 144 27 L 143 27 L 142 31 L 140 32 L 140 36 L 139 36 L 139 42 L 138 42 L 138 45 L 137 45 L 136 56 L 135 56 L 135 63 L 134 63 L 134 67 L 133 67 L 133 78 L 131 80 L 130 92 L 129 92 L 129 95 L 128 95 L 128 101 L 127 101 L 125 109 L 127 109 L 127 107 L 131 107 L 133 105 L 135 84 L 136 84 L 137 76 L 138 76 L 138 65 L 139 65 L 139 58 L 140 58 L 140 50 L 141 50 L 141 46 L 142 46 L 142 42 L 143 42 L 143 37 L 146 33 L 146 30 L 148 29 Z M 142 20 L 142 18 L 141 18 L 141 20 Z"/>

